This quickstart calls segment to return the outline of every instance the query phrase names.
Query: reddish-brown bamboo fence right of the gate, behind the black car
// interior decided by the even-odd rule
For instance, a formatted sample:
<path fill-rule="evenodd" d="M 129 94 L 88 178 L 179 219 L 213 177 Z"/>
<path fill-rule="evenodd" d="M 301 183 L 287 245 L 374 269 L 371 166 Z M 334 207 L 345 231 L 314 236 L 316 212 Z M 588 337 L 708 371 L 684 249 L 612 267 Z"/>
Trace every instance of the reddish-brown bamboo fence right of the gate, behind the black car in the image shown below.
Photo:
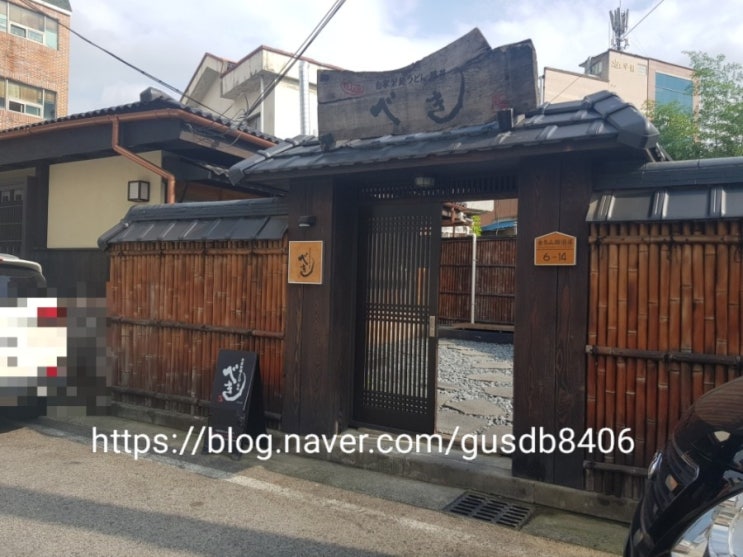
<path fill-rule="evenodd" d="M 637 498 L 682 412 L 741 374 L 741 222 L 593 224 L 589 241 L 587 427 L 629 428 L 635 450 L 589 455 L 586 487 Z"/>

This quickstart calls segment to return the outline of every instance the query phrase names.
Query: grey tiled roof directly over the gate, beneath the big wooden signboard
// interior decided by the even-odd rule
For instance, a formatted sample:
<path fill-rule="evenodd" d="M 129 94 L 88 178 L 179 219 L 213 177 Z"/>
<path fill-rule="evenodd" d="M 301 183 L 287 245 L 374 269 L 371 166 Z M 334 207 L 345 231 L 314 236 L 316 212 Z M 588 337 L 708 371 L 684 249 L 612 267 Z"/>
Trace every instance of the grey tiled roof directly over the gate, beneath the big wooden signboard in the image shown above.
<path fill-rule="evenodd" d="M 438 132 L 337 143 L 331 140 L 329 145 L 323 145 L 315 137 L 298 137 L 237 163 L 230 169 L 230 180 L 237 184 L 246 176 L 255 179 L 516 147 L 539 148 L 560 143 L 587 145 L 598 140 L 613 140 L 618 145 L 650 150 L 657 145 L 658 131 L 634 106 L 603 91 L 582 101 L 542 105 L 512 127 L 495 121 Z"/>

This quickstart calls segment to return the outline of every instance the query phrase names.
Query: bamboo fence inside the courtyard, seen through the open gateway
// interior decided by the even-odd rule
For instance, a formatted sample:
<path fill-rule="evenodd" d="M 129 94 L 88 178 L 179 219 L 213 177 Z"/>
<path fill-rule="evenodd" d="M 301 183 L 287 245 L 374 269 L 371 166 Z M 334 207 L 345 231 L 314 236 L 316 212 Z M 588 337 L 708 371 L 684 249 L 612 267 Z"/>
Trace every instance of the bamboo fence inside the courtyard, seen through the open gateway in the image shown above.
<path fill-rule="evenodd" d="M 516 238 L 478 238 L 475 322 L 513 325 Z M 472 238 L 441 239 L 439 319 L 469 322 L 472 288 Z"/>

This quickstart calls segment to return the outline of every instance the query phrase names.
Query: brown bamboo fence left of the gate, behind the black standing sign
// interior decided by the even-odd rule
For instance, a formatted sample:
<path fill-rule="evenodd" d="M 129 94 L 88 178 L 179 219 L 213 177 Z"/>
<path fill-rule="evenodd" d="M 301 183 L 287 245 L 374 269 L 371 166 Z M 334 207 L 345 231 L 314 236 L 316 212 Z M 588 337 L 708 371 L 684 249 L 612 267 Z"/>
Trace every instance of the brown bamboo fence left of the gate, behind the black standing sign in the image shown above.
<path fill-rule="evenodd" d="M 114 396 L 206 416 L 220 349 L 257 352 L 281 412 L 286 239 L 113 245 L 108 285 Z"/>

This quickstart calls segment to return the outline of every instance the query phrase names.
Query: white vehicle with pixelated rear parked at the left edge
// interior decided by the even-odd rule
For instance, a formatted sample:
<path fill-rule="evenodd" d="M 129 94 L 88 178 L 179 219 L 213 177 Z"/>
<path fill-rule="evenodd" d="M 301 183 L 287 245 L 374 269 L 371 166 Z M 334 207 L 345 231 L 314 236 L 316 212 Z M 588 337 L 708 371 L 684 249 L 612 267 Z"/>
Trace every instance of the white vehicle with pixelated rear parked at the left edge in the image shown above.
<path fill-rule="evenodd" d="M 41 265 L 0 254 L 0 407 L 43 413 L 64 389 L 67 312 L 46 297 Z"/>

